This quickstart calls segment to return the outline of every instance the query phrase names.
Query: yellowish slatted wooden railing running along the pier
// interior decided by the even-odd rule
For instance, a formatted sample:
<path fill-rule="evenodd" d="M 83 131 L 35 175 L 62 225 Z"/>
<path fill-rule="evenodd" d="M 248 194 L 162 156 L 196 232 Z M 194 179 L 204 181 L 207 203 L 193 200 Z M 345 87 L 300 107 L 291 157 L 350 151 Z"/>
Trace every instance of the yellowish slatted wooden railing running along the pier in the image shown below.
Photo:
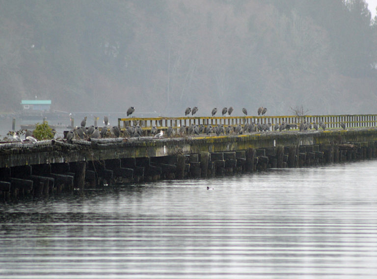
<path fill-rule="evenodd" d="M 340 128 L 340 123 L 344 122 L 347 128 L 365 128 L 377 126 L 377 114 L 340 114 L 340 115 L 284 115 L 284 116 L 218 116 L 218 117 L 129 117 L 118 118 L 118 126 L 121 129 L 125 129 L 129 125 L 139 124 L 143 130 L 149 130 L 153 126 L 157 129 L 167 129 L 172 127 L 173 129 L 179 128 L 182 125 L 190 126 L 194 125 L 224 125 L 224 126 L 236 126 L 244 125 L 245 123 L 270 123 L 274 125 L 276 123 L 318 123 L 323 121 L 328 129 Z"/>

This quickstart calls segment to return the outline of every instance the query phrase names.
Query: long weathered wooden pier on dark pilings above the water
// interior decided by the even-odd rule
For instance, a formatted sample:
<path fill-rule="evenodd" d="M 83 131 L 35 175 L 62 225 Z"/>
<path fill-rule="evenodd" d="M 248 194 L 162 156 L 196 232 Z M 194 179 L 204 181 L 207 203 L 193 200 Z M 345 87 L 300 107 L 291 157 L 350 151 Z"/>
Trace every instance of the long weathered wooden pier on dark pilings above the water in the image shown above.
<path fill-rule="evenodd" d="M 252 118 L 237 117 L 224 121 L 233 119 L 233 125 L 236 125 L 239 121 L 247 123 Z M 260 119 L 276 121 L 283 118 L 269 120 L 269 117 L 258 117 Z M 119 123 L 130 120 L 119 119 Z M 148 120 L 141 120 L 145 121 L 143 124 L 147 129 Z M 160 120 L 150 120 L 150 124 Z M 208 117 L 205 120 L 190 117 L 167 121 L 178 121 L 173 124 L 178 129 L 180 125 L 190 125 L 189 121 L 194 120 L 207 121 L 207 125 L 214 120 L 216 125 L 216 119 Z M 54 195 L 63 191 L 80 192 L 108 184 L 206 178 L 269 168 L 372 159 L 377 157 L 377 128 L 372 127 L 372 124 L 377 124 L 375 121 L 376 118 L 365 117 L 363 128 L 354 122 L 356 128 L 346 130 L 330 128 L 325 131 L 269 131 L 228 136 L 91 139 L 74 140 L 72 144 L 57 140 L 4 143 L 0 144 L 0 200 Z M 159 128 L 170 124 L 162 123 Z M 330 123 L 327 122 L 327 125 Z"/>

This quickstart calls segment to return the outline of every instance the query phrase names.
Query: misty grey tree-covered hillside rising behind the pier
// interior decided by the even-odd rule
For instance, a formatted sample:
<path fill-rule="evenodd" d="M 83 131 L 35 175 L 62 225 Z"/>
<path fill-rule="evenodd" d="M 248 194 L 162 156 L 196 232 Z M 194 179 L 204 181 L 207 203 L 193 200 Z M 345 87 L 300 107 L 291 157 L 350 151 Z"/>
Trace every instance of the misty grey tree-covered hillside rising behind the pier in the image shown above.
<path fill-rule="evenodd" d="M 0 112 L 377 113 L 364 0 L 0 0 Z"/>

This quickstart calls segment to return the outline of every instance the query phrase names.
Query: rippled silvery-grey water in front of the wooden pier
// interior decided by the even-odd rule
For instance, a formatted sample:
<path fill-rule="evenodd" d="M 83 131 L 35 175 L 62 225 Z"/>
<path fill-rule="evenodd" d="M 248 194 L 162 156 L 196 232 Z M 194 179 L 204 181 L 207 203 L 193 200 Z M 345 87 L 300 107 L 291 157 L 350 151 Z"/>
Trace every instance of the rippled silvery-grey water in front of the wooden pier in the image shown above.
<path fill-rule="evenodd" d="M 377 278 L 376 170 L 367 161 L 1 204 L 0 277 Z"/>

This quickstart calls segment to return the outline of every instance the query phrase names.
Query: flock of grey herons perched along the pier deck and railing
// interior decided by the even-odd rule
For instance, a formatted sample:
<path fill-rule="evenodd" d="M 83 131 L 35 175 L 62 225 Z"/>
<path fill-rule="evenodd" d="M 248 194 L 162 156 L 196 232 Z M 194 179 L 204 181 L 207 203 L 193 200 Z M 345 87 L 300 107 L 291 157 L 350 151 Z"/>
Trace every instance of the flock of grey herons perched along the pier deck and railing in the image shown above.
<path fill-rule="evenodd" d="M 221 113 L 225 115 L 228 113 L 230 116 L 231 113 L 234 111 L 233 107 L 223 108 Z M 135 107 L 130 107 L 127 110 L 127 116 L 131 115 L 135 112 Z M 197 107 L 193 107 L 192 110 L 188 107 L 185 110 L 185 116 L 191 113 L 192 116 L 198 112 Z M 242 112 L 244 115 L 247 115 L 247 110 L 242 108 Z M 258 115 L 264 115 L 267 112 L 267 108 L 260 107 L 258 108 Z M 211 112 L 212 116 L 215 116 L 217 113 L 217 108 L 214 108 Z M 326 129 L 326 124 L 323 121 L 319 121 L 318 123 L 308 123 L 303 121 L 302 123 L 287 123 L 283 121 L 282 123 L 275 123 L 274 125 L 271 123 L 260 123 L 251 122 L 251 123 L 244 123 L 244 124 L 236 124 L 236 125 L 195 125 L 190 124 L 189 126 L 182 125 L 179 128 L 175 129 L 172 126 L 167 127 L 165 130 L 158 131 L 156 126 L 153 126 L 149 131 L 145 131 L 144 121 L 143 120 L 128 120 L 124 121 L 124 129 L 120 129 L 118 126 L 110 126 L 108 122 L 108 116 L 104 116 L 104 126 L 102 128 L 89 126 L 86 127 L 86 119 L 81 121 L 81 126 L 76 126 L 76 128 L 69 131 L 66 135 L 67 142 L 72 142 L 74 139 L 100 139 L 100 138 L 120 138 L 120 137 L 143 137 L 144 134 L 149 134 L 154 138 L 162 138 L 162 137 L 173 137 L 173 136 L 186 136 L 186 135 L 230 135 L 230 134 L 243 134 L 243 133 L 252 133 L 252 132 L 268 132 L 268 131 L 284 131 L 290 129 L 299 129 L 299 131 L 308 131 L 308 130 L 319 130 Z M 162 121 L 160 121 L 160 126 L 162 126 Z M 340 126 L 343 129 L 346 129 L 346 124 L 342 122 Z M 142 128 L 144 127 L 144 129 Z M 144 131 L 143 131 L 144 130 Z M 146 133 L 145 133 L 146 132 Z"/>

